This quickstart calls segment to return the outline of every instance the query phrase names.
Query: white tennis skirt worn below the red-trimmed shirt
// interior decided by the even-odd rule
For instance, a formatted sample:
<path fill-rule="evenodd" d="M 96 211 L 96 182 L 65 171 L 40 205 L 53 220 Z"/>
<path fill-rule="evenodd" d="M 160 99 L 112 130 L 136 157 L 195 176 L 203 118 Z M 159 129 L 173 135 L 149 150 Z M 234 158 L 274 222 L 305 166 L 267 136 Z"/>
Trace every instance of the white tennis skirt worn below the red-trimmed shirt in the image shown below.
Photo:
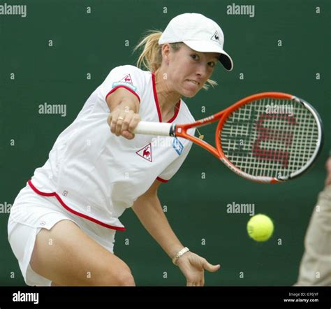
<path fill-rule="evenodd" d="M 31 268 L 30 259 L 39 231 L 50 230 L 61 220 L 75 222 L 84 233 L 113 253 L 115 230 L 69 213 L 54 196 L 41 196 L 27 185 L 17 195 L 8 219 L 8 240 L 27 285 L 51 285 L 51 280 Z"/>

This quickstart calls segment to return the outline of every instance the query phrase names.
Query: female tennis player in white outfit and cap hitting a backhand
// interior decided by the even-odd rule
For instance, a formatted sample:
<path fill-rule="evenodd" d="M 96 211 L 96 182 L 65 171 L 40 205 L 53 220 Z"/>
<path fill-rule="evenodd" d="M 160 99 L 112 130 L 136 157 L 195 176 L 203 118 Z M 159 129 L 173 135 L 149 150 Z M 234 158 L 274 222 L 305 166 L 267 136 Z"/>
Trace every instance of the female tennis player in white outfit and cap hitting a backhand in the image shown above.
<path fill-rule="evenodd" d="M 152 31 L 138 44 L 138 67 L 149 71 L 118 66 L 89 96 L 11 208 L 8 240 L 27 285 L 135 285 L 128 265 L 113 254 L 126 208 L 179 266 L 187 285 L 203 286 L 204 270 L 220 268 L 182 245 L 157 195 L 191 142 L 167 137 L 156 143 L 132 132 L 140 120 L 193 122 L 182 96 L 214 85 L 209 78 L 218 62 L 233 69 L 223 41 L 209 18 L 178 15 L 163 33 Z"/>

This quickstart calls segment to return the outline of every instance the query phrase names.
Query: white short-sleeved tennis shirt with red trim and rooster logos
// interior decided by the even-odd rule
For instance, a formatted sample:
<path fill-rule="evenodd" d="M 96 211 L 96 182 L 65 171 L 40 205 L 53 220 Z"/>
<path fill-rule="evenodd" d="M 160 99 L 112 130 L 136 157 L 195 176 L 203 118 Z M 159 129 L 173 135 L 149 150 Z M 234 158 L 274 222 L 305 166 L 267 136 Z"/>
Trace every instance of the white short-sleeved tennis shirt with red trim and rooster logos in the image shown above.
<path fill-rule="evenodd" d="M 135 66 L 118 66 L 59 135 L 49 158 L 44 166 L 36 168 L 29 185 L 38 194 L 55 196 L 59 207 L 75 215 L 123 231 L 119 216 L 156 179 L 170 180 L 192 143 L 184 138 L 138 134 L 127 140 L 112 134 L 106 98 L 118 87 L 138 97 L 143 121 L 162 122 L 154 74 Z M 184 101 L 179 100 L 175 109 L 169 122 L 194 121 Z"/>

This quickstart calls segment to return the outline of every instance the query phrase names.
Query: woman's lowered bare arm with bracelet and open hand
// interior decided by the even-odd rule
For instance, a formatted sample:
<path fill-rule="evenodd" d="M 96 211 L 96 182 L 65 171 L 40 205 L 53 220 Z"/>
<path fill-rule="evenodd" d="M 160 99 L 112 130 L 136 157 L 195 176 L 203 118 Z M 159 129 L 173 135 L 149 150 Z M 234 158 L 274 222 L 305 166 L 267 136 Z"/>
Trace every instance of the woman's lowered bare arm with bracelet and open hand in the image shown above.
<path fill-rule="evenodd" d="M 157 196 L 157 189 L 161 182 L 156 180 L 154 184 L 142 194 L 133 204 L 133 211 L 142 225 L 161 245 L 170 258 L 174 257 L 179 250 L 183 249 L 182 243 L 172 231 L 170 224 L 163 213 L 161 203 Z M 213 266 L 206 259 L 199 257 L 193 252 L 186 252 L 177 260 L 182 273 L 186 277 L 187 285 L 202 286 L 205 284 L 204 269 L 217 271 L 219 265 Z"/>

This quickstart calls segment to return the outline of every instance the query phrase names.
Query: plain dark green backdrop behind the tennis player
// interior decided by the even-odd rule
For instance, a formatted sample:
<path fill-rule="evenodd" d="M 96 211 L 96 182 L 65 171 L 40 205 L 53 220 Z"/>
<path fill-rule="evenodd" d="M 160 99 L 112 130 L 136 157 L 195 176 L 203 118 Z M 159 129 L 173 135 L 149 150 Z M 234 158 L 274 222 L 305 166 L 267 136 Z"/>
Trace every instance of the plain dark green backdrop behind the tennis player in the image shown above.
<path fill-rule="evenodd" d="M 228 73 L 218 66 L 213 79 L 219 86 L 185 100 L 193 116 L 211 115 L 249 94 L 288 92 L 321 113 L 325 146 L 301 178 L 261 185 L 238 177 L 193 145 L 177 175 L 161 185 L 161 203 L 182 243 L 221 264 L 221 271 L 205 274 L 206 285 L 293 285 L 330 149 L 330 1 L 0 1 L 4 3 L 27 5 L 27 16 L 0 15 L 1 204 L 13 203 L 109 71 L 135 64 L 133 47 L 146 30 L 164 29 L 180 13 L 203 13 L 221 25 L 235 68 Z M 233 3 L 254 6 L 254 16 L 227 14 Z M 44 102 L 66 104 L 66 117 L 40 115 L 38 106 Z M 213 129 L 202 129 L 207 141 L 213 140 Z M 272 217 L 272 238 L 251 240 L 249 214 L 226 212 L 233 202 L 254 203 L 255 213 Z M 24 285 L 8 244 L 7 221 L 8 213 L 0 213 L 0 285 Z M 133 211 L 126 210 L 121 221 L 127 231 L 117 232 L 115 254 L 131 267 L 137 285 L 185 285 L 182 273 Z"/>

